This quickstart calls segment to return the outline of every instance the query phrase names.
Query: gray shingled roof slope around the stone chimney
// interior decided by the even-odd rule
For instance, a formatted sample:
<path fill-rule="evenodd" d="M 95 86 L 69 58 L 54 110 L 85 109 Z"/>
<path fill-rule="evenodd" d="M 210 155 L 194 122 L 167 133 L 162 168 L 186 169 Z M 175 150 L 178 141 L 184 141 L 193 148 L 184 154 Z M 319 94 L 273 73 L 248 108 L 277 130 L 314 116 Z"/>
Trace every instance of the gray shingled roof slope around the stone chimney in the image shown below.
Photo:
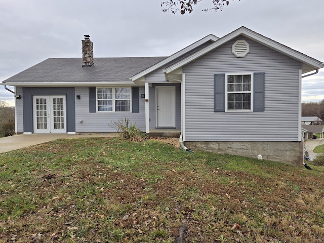
<path fill-rule="evenodd" d="M 82 67 L 82 58 L 49 58 L 6 80 L 8 83 L 129 82 L 129 78 L 166 57 L 95 58 Z"/>

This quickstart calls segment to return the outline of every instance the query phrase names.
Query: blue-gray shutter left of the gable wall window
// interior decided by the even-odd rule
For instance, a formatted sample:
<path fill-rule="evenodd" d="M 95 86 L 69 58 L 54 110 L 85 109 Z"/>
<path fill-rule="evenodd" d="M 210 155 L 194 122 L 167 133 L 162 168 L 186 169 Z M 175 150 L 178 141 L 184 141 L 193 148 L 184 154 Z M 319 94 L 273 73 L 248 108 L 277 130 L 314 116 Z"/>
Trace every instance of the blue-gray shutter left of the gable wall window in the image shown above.
<path fill-rule="evenodd" d="M 225 111 L 225 73 L 214 74 L 214 111 Z"/>

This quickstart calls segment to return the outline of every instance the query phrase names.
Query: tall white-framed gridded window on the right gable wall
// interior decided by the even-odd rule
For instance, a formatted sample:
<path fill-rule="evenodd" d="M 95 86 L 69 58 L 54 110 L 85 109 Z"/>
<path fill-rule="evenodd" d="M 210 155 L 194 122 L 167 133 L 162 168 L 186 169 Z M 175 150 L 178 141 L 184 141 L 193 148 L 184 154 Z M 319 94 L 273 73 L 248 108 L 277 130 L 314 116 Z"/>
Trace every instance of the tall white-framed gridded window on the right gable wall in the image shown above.
<path fill-rule="evenodd" d="M 225 94 L 225 111 L 252 111 L 252 73 L 226 74 Z"/>

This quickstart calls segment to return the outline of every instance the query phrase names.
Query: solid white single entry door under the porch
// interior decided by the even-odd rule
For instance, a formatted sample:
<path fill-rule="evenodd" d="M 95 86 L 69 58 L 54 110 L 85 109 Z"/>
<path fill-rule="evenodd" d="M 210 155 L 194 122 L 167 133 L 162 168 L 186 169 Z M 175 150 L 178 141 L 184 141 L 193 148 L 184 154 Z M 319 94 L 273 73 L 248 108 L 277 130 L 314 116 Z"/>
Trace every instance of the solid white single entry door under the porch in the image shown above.
<path fill-rule="evenodd" d="M 156 87 L 156 127 L 176 127 L 176 87 Z"/>

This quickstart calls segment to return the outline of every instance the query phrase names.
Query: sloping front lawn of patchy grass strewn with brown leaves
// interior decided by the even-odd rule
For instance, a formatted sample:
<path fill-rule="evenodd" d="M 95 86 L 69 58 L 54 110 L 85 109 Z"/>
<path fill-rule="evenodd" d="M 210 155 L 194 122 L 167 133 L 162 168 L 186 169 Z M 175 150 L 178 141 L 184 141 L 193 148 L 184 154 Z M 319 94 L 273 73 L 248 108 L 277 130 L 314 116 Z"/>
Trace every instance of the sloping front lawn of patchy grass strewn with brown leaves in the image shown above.
<path fill-rule="evenodd" d="M 170 139 L 56 140 L 0 154 L 0 242 L 322 242 L 312 169 Z"/>

